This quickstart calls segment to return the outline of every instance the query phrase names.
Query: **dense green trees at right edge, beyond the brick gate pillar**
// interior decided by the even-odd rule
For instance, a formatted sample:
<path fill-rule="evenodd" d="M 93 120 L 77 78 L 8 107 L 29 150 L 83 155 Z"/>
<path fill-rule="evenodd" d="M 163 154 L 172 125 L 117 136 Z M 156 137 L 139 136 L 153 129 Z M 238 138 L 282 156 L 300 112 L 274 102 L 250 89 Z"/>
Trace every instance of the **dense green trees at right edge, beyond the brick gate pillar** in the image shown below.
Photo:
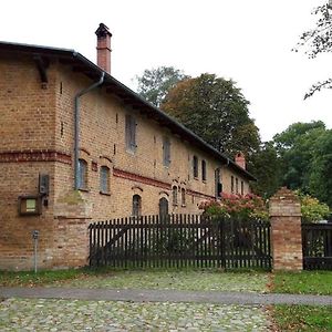
<path fill-rule="evenodd" d="M 294 123 L 273 138 L 280 184 L 332 207 L 332 131 L 321 121 Z"/>

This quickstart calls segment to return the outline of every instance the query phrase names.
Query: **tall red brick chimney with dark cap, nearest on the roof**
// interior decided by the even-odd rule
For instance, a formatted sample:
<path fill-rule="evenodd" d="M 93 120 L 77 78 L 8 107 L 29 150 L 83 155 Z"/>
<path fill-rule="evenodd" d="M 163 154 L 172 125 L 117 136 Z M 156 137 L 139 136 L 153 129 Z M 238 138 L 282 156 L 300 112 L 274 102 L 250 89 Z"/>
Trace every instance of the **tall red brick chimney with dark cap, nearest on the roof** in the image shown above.
<path fill-rule="evenodd" d="M 97 37 L 97 65 L 111 74 L 111 37 L 108 28 L 101 23 L 95 32 Z"/>

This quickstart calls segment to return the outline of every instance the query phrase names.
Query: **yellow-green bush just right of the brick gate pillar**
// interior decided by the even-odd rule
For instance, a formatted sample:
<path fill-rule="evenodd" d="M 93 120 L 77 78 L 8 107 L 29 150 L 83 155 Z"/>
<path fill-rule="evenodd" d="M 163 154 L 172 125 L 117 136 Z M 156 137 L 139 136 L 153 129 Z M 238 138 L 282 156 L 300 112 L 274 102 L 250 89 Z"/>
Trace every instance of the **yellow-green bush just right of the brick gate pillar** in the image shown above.
<path fill-rule="evenodd" d="M 326 204 L 310 195 L 297 193 L 301 200 L 302 219 L 307 222 L 315 222 L 326 219 L 330 216 L 330 208 Z"/>

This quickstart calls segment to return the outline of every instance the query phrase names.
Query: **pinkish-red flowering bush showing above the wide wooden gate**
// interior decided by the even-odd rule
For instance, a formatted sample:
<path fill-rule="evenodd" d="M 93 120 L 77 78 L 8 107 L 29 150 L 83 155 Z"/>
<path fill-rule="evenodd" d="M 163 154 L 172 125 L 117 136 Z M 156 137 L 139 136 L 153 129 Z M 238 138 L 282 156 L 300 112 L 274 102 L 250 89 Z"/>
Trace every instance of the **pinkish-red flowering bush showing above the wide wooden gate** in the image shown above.
<path fill-rule="evenodd" d="M 268 209 L 261 197 L 253 194 L 246 196 L 225 194 L 221 200 L 210 200 L 199 206 L 204 212 L 212 217 L 237 218 L 237 219 L 268 219 Z"/>

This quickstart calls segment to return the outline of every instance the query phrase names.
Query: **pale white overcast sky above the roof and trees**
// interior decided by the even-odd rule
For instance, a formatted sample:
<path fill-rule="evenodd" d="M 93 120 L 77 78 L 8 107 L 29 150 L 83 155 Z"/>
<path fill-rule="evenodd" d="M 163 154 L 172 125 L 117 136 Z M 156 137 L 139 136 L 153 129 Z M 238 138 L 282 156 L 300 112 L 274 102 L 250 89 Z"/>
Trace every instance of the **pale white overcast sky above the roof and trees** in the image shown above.
<path fill-rule="evenodd" d="M 95 34 L 112 38 L 112 75 L 135 90 L 145 69 L 232 79 L 250 101 L 263 141 L 294 122 L 332 127 L 332 91 L 303 101 L 312 83 L 332 76 L 332 54 L 309 60 L 291 49 L 314 27 L 324 0 L 11 0 L 1 6 L 0 40 L 74 49 L 95 61 Z M 1 73 L 0 73 L 1 74 Z"/>

